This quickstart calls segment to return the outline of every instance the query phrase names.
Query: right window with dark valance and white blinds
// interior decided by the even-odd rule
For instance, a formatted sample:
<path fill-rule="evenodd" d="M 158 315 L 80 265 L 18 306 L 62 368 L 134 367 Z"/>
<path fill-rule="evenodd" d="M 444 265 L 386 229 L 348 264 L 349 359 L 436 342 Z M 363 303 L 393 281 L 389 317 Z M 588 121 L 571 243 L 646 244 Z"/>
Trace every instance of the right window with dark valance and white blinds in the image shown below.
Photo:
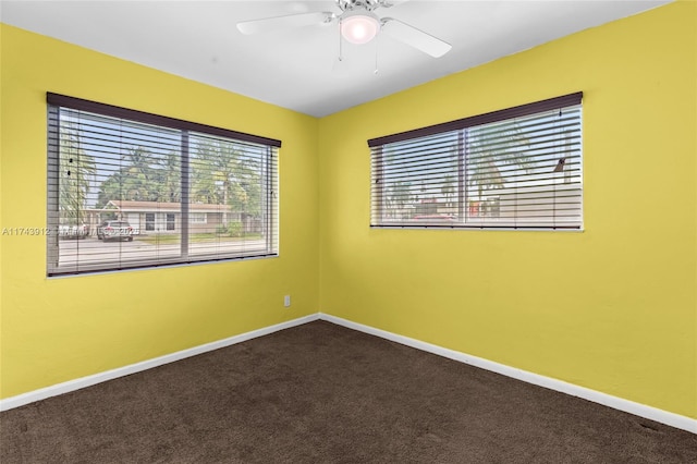
<path fill-rule="evenodd" d="M 368 141 L 371 225 L 582 229 L 582 97 Z"/>

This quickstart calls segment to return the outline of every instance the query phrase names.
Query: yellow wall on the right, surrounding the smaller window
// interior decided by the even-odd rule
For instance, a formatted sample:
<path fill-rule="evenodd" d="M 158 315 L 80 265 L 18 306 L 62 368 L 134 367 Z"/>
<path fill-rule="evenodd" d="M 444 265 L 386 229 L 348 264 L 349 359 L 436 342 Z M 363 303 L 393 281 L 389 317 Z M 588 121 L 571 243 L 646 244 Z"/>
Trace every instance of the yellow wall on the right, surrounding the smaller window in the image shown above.
<path fill-rule="evenodd" d="M 697 9 L 320 121 L 323 313 L 697 417 Z M 585 231 L 370 230 L 368 138 L 584 91 Z"/>

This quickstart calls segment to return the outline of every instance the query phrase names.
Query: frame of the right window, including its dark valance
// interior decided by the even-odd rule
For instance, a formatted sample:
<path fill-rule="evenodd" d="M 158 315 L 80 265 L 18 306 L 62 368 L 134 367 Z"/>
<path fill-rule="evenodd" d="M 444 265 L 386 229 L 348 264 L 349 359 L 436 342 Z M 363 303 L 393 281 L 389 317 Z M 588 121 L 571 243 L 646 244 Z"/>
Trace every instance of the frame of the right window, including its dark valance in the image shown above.
<path fill-rule="evenodd" d="M 580 210 L 579 212 L 579 220 L 578 223 L 576 224 L 568 224 L 565 225 L 563 223 L 561 224 L 557 224 L 553 223 L 552 225 L 548 225 L 548 224 L 543 224 L 543 220 L 539 220 L 537 224 L 516 224 L 516 220 L 518 220 L 518 216 L 516 212 L 516 216 L 513 216 L 510 220 L 504 221 L 508 222 L 505 224 L 501 224 L 498 225 L 494 223 L 493 220 L 477 220 L 477 219 L 472 219 L 469 217 L 469 212 L 466 211 L 466 209 L 469 208 L 469 206 L 467 205 L 466 198 L 467 198 L 467 192 L 468 192 L 468 187 L 467 187 L 467 173 L 470 172 L 470 168 L 468 167 L 469 160 L 467 159 L 469 157 L 469 154 L 467 151 L 467 145 L 468 145 L 468 141 L 466 139 L 467 136 L 467 131 L 473 129 L 473 127 L 477 127 L 477 126 L 485 126 L 487 124 L 492 124 L 492 123 L 504 123 L 506 121 L 515 121 L 518 118 L 526 118 L 526 117 L 535 117 L 537 114 L 543 114 L 546 112 L 550 112 L 550 111 L 557 111 L 557 110 L 563 110 L 563 109 L 570 109 L 570 108 L 574 108 L 577 107 L 578 108 L 578 136 L 579 136 L 579 141 L 578 141 L 578 176 L 579 176 L 579 182 L 577 183 L 578 185 L 578 190 L 579 190 L 579 206 L 578 209 Z M 391 135 L 386 135 L 386 136 L 381 136 L 381 137 L 376 137 L 376 138 L 371 138 L 367 141 L 368 147 L 370 148 L 371 155 L 371 179 L 370 179 L 370 185 L 371 185 L 371 193 L 370 193 L 370 228 L 374 229 L 456 229 L 456 230 L 541 230 L 541 231 L 550 231 L 550 230 L 573 230 L 573 231 L 583 231 L 584 225 L 583 225 L 583 195 L 584 195 L 584 191 L 583 191 L 583 147 L 582 147 L 582 143 L 583 143 L 583 118 L 582 118 L 582 112 L 583 112 L 583 91 L 576 91 L 573 94 L 567 94 L 567 95 L 563 95 L 560 97 L 554 97 L 554 98 L 549 98 L 549 99 L 545 99 L 545 100 L 540 100 L 540 101 L 535 101 L 531 103 L 525 103 L 525 105 L 521 105 L 521 106 L 516 106 L 516 107 L 512 107 L 512 108 L 508 108 L 508 109 L 503 109 L 503 110 L 498 110 L 498 111 L 491 111 L 488 113 L 482 113 L 482 114 L 477 114 L 477 115 L 473 115 L 473 117 L 467 117 L 467 118 L 463 118 L 463 119 L 458 119 L 458 120 L 454 120 L 454 121 L 448 121 L 444 123 L 439 123 L 439 124 L 433 124 L 433 125 L 429 125 L 429 126 L 425 126 L 425 127 L 418 127 L 415 130 L 411 130 L 411 131 L 405 131 L 405 132 L 400 132 L 400 133 L 395 133 L 395 134 L 391 134 Z M 561 113 L 560 113 L 561 114 Z M 384 160 L 386 158 L 386 150 L 389 151 L 390 148 L 394 148 L 394 146 L 391 146 L 393 144 L 408 144 L 408 143 L 414 143 L 415 145 L 418 144 L 419 142 L 424 142 L 425 146 L 428 146 L 428 137 L 447 137 L 449 136 L 449 134 L 453 134 L 453 139 L 455 138 L 455 134 L 457 137 L 457 142 L 454 145 L 456 147 L 456 164 L 457 164 L 457 169 L 456 169 L 456 179 L 453 179 L 454 181 L 454 196 L 455 196 L 455 202 L 452 202 L 453 204 L 456 203 L 456 208 L 457 208 L 457 213 L 455 215 L 455 217 L 457 218 L 456 220 L 436 220 L 436 219 L 430 219 L 430 218 L 426 218 L 426 221 L 424 223 L 417 223 L 416 221 L 414 221 L 414 219 L 396 219 L 396 220 L 391 220 L 388 221 L 386 220 L 386 212 L 390 211 L 390 208 L 387 207 L 384 204 L 386 202 L 389 202 L 389 198 L 387 197 L 388 195 L 388 187 L 384 185 L 384 183 L 387 182 L 387 175 L 386 175 L 386 164 L 387 161 Z M 407 150 L 412 150 L 413 148 L 408 148 Z M 394 152 L 394 151 L 393 151 Z M 427 155 L 427 150 L 424 149 L 423 151 L 405 151 L 408 152 L 408 157 L 409 158 L 417 158 L 419 156 L 419 152 L 423 152 L 424 155 L 421 156 L 429 156 Z M 413 152 L 416 154 L 416 156 L 413 155 Z M 442 162 L 443 158 L 439 158 L 439 162 Z M 404 164 L 408 164 L 409 161 L 407 161 Z M 417 164 L 419 161 L 413 161 L 415 166 Z M 423 161 L 420 161 L 423 162 Z M 563 164 L 563 161 L 561 161 Z M 428 164 L 426 164 L 428 166 Z M 399 169 L 406 169 L 406 168 L 399 168 Z M 428 168 L 424 169 L 424 168 L 419 168 L 419 169 L 415 169 L 418 172 L 423 172 L 424 175 L 429 176 L 429 175 L 435 175 L 437 176 L 438 174 L 432 174 L 433 171 L 438 171 L 439 169 L 442 168 L 433 168 L 431 171 L 429 171 Z M 404 178 L 406 179 L 407 175 L 405 174 Z M 444 181 L 447 178 L 445 174 L 442 174 L 442 180 Z M 393 180 L 396 178 L 393 178 Z M 382 182 L 386 181 L 386 182 Z M 430 179 L 429 181 L 430 182 Z M 427 183 L 428 183 L 427 182 Z M 382 183 L 382 184 L 381 184 Z M 407 194 L 407 198 L 409 197 L 409 195 Z M 552 200 L 552 203 L 554 203 L 555 199 Z M 421 205 L 419 205 L 421 206 Z M 426 208 L 423 208 L 426 209 Z M 555 213 L 555 212 L 554 212 Z M 414 217 L 416 218 L 416 217 Z M 554 216 L 555 218 L 555 216 Z M 525 222 L 525 221 L 522 221 Z M 531 222 L 531 221 L 530 221 Z M 503 222 L 502 222 L 503 223 Z"/>

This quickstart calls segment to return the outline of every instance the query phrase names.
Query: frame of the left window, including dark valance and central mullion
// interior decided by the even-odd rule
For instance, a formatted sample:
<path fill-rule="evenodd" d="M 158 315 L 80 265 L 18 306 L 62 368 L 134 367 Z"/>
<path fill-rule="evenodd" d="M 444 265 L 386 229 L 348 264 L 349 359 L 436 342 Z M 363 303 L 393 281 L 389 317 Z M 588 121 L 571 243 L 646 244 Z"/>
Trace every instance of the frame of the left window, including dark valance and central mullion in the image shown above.
<path fill-rule="evenodd" d="M 258 135 L 247 134 L 243 132 L 232 131 L 228 129 L 211 126 L 207 124 L 180 120 L 175 118 L 169 118 L 155 113 L 144 112 L 139 110 L 133 110 L 122 108 L 118 106 L 101 103 L 97 101 L 86 100 L 76 97 L 70 97 L 65 95 L 47 93 L 47 225 L 48 230 L 56 229 L 57 233 L 47 234 L 47 276 L 58 277 L 66 274 L 85 274 L 94 272 L 110 272 L 120 270 L 132 269 L 147 269 L 168 266 L 182 266 L 193 264 L 205 264 L 227 260 L 239 260 L 248 258 L 267 258 L 279 256 L 279 169 L 278 169 L 278 150 L 281 147 L 281 141 L 274 138 L 262 137 Z M 99 117 L 112 118 L 115 120 L 122 120 L 126 123 L 142 123 L 150 126 L 157 126 L 167 130 L 176 131 L 182 139 L 182 149 L 179 151 L 180 168 L 180 187 L 181 210 L 178 211 L 179 219 L 174 213 L 174 229 L 179 229 L 176 233 L 181 237 L 182 251 L 189 249 L 189 193 L 191 190 L 191 167 L 189 161 L 194 155 L 188 152 L 193 142 L 189 144 L 189 133 L 192 136 L 212 137 L 219 138 L 225 143 L 231 144 L 247 144 L 249 146 L 257 146 L 256 149 L 262 152 L 261 158 L 264 167 L 259 168 L 259 181 L 264 184 L 260 202 L 264 204 L 264 217 L 260 219 L 262 231 L 262 241 L 265 243 L 264 249 L 249 251 L 248 253 L 231 253 L 231 252 L 215 252 L 215 253 L 198 253 L 187 254 L 182 253 L 181 256 L 167 259 L 148 259 L 148 258 L 132 258 L 122 260 L 121 257 L 118 260 L 108 260 L 100 262 L 93 262 L 88 265 L 63 265 L 59 262 L 60 259 L 60 246 L 61 241 L 58 237 L 58 228 L 60 223 L 60 157 L 61 157 L 61 110 L 71 110 L 90 113 Z M 157 205 L 158 202 L 154 202 Z M 145 218 L 147 213 L 144 213 Z M 206 215 L 206 213 L 204 213 Z M 170 221 L 167 222 L 167 228 L 170 225 Z M 100 224 L 101 220 L 97 222 Z M 155 215 L 154 221 L 155 229 L 157 229 L 157 215 Z M 147 221 L 146 227 L 147 230 Z M 266 235 L 266 236 L 264 236 Z"/>

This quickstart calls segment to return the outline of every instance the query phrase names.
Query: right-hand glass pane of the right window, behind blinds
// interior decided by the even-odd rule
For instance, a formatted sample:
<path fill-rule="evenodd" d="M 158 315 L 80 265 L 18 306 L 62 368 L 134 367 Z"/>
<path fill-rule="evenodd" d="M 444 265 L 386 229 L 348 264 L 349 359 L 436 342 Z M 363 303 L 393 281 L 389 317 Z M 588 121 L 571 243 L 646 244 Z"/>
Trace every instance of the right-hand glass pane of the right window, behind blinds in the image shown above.
<path fill-rule="evenodd" d="M 466 220 L 513 227 L 580 222 L 580 108 L 469 127 L 466 139 Z"/>

